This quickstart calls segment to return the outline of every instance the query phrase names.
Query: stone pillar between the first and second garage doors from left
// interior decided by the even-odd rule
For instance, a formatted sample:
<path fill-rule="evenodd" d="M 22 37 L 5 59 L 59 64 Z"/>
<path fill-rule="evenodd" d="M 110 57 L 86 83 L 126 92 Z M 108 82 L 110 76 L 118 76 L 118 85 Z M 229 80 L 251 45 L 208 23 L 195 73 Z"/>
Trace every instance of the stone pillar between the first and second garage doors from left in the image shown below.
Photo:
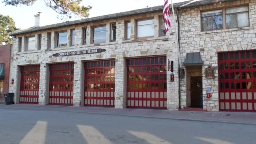
<path fill-rule="evenodd" d="M 49 68 L 48 64 L 40 64 L 40 80 L 39 80 L 39 104 L 48 104 L 49 100 Z"/>

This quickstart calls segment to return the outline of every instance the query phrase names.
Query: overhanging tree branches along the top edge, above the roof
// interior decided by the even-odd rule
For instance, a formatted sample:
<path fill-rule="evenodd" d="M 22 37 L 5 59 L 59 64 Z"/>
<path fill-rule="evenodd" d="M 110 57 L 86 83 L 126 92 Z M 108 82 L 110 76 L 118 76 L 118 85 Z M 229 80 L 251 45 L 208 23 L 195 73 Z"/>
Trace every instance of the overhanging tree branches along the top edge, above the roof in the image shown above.
<path fill-rule="evenodd" d="M 3 0 L 5 5 L 33 5 L 37 0 Z M 90 5 L 85 7 L 81 6 L 82 0 L 44 0 L 45 5 L 52 8 L 59 13 L 62 18 L 71 18 L 73 15 L 80 17 L 88 17 L 89 10 L 92 8 Z"/>

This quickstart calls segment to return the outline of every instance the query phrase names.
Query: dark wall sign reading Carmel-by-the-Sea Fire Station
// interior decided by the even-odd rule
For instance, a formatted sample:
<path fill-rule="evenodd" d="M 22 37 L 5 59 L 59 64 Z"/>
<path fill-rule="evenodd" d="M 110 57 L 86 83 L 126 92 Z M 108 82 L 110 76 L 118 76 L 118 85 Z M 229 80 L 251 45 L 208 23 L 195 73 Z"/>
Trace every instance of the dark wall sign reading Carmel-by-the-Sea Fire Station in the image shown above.
<path fill-rule="evenodd" d="M 74 55 L 81 55 L 81 54 L 93 54 L 93 53 L 101 53 L 106 51 L 106 49 L 92 49 L 92 50 L 82 50 L 82 51 L 67 51 L 63 53 L 55 53 L 53 56 L 74 56 Z"/>

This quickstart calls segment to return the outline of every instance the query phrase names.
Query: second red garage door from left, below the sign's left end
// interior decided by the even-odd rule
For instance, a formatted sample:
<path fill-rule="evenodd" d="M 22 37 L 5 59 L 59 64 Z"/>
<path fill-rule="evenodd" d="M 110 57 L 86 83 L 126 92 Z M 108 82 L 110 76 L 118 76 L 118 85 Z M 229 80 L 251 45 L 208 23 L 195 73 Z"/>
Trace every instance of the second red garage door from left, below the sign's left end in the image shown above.
<path fill-rule="evenodd" d="M 74 63 L 50 64 L 49 104 L 73 105 Z"/>

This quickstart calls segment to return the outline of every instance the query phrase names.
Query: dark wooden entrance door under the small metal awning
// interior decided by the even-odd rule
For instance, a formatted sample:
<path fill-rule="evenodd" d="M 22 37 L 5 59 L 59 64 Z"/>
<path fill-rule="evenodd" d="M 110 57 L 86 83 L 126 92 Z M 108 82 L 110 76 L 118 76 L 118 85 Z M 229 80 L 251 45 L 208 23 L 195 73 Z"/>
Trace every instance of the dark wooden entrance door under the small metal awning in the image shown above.
<path fill-rule="evenodd" d="M 190 77 L 191 80 L 191 107 L 201 107 L 200 95 L 203 94 L 202 77 Z"/>

